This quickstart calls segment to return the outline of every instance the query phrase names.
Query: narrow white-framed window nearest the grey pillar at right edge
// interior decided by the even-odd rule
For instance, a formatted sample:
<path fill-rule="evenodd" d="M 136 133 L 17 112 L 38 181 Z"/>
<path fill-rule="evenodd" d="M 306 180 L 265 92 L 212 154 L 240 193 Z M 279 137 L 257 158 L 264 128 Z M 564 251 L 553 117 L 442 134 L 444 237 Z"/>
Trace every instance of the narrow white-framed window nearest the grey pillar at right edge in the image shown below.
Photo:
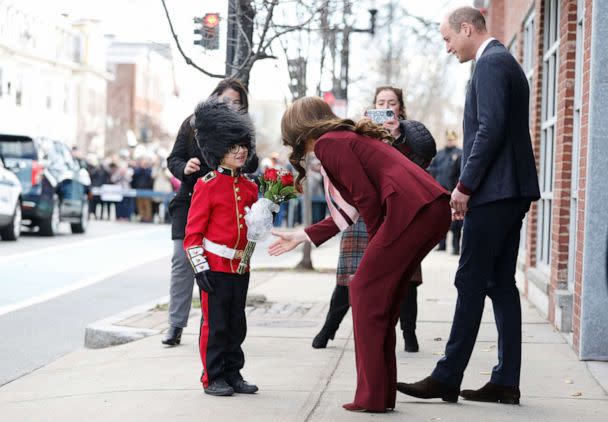
<path fill-rule="evenodd" d="M 568 246 L 568 290 L 574 292 L 574 268 L 576 262 L 576 232 L 578 226 L 578 176 L 581 141 L 581 109 L 583 100 L 583 40 L 585 2 L 576 6 L 576 59 L 574 67 L 574 118 L 572 133 L 572 179 L 570 186 L 570 240 Z"/>

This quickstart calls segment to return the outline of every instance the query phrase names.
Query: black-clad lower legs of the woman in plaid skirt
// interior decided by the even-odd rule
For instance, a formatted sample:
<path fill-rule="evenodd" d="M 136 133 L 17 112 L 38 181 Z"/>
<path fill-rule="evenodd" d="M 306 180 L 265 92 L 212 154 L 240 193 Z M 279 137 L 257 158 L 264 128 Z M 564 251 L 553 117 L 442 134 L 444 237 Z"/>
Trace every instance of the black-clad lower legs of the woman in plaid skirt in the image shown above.
<path fill-rule="evenodd" d="M 401 321 L 401 330 L 404 334 L 416 331 L 416 318 L 418 316 L 417 292 L 418 285 L 411 283 L 401 303 L 399 320 Z M 344 319 L 344 315 L 348 312 L 348 308 L 350 308 L 348 287 L 336 284 L 329 302 L 325 324 L 322 328 L 328 337 L 334 338 L 336 331 L 340 327 L 340 323 Z"/>

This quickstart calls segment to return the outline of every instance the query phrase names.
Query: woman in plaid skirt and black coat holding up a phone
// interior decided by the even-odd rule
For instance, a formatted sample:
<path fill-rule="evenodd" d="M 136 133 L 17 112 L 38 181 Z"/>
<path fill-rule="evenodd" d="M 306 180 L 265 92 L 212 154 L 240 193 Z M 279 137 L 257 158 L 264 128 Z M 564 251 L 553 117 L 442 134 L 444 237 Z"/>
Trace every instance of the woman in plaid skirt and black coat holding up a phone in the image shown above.
<path fill-rule="evenodd" d="M 407 116 L 401 89 L 392 86 L 378 87 L 374 95 L 373 106 L 377 109 L 389 108 L 395 113 L 394 119 L 389 119 L 382 124 L 395 138 L 393 146 L 402 151 L 406 157 L 410 159 L 414 157 L 412 159 L 414 162 L 416 162 L 415 158 L 423 158 L 420 163 L 417 163 L 422 168 L 428 166 L 428 163 L 431 162 L 437 151 L 435 140 L 422 124 L 414 121 L 405 121 Z M 413 128 L 414 125 L 420 128 L 420 130 L 415 131 L 415 137 L 408 137 L 406 142 L 405 133 L 410 127 Z M 403 148 L 406 144 L 409 147 Z M 348 312 L 348 308 L 350 308 L 348 283 L 354 276 L 363 258 L 367 240 L 367 230 L 361 218 L 342 233 L 338 268 L 336 271 L 336 287 L 331 295 L 325 323 L 312 341 L 312 347 L 315 349 L 323 349 L 327 347 L 327 342 L 330 339 L 333 340 L 342 319 Z M 412 276 L 411 283 L 406 289 L 399 314 L 401 330 L 403 332 L 404 350 L 411 353 L 415 353 L 419 349 L 416 337 L 416 318 L 418 316 L 417 289 L 421 283 L 422 270 L 418 267 Z"/>

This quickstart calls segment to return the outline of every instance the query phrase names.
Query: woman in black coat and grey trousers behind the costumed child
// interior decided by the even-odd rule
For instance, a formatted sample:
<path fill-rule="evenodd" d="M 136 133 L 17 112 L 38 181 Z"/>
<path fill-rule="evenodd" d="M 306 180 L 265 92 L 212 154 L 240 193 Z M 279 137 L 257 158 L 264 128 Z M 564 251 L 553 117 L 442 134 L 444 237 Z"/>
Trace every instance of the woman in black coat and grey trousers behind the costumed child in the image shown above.
<path fill-rule="evenodd" d="M 211 97 L 216 97 L 219 101 L 228 103 L 232 107 L 242 109 L 245 112 L 249 109 L 247 90 L 235 78 L 221 80 L 211 93 Z M 194 272 L 184 253 L 182 244 L 192 190 L 196 181 L 212 170 L 204 164 L 200 149 L 196 144 L 191 119 L 192 115 L 188 116 L 181 124 L 173 150 L 167 158 L 169 171 L 182 182 L 175 198 L 169 204 L 173 257 L 171 259 L 171 288 L 169 292 L 169 330 L 162 339 L 162 343 L 168 346 L 180 344 L 183 328 L 188 323 L 192 303 Z M 258 157 L 253 150 L 249 154 L 243 171 L 244 173 L 253 173 L 257 167 Z"/>

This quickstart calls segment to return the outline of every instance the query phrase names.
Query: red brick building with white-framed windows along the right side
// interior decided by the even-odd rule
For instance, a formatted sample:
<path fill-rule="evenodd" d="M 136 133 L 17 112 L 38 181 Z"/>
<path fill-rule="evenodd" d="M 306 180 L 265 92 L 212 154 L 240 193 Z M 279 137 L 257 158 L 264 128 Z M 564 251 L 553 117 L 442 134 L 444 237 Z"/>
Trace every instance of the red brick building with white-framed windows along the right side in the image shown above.
<path fill-rule="evenodd" d="M 581 359 L 600 360 L 608 360 L 607 3 L 475 1 L 530 82 L 541 199 L 522 239 L 524 293 Z"/>

